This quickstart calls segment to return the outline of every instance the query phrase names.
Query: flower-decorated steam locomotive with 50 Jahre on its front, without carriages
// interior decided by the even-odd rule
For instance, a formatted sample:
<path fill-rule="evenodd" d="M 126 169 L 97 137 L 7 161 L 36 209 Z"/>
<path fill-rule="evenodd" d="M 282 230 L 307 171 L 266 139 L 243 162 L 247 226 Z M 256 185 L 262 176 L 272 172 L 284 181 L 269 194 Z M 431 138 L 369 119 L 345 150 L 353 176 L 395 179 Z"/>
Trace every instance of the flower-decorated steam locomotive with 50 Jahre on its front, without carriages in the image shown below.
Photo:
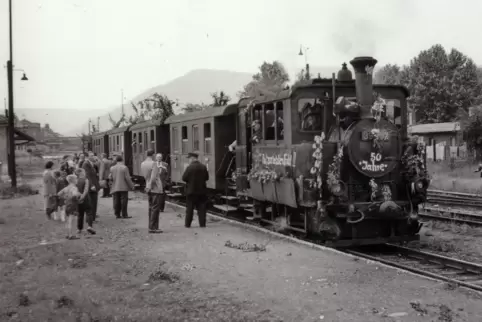
<path fill-rule="evenodd" d="M 425 147 L 407 136 L 408 90 L 373 85 L 377 61 L 357 57 L 337 79 L 241 101 L 238 196 L 255 219 L 333 246 L 418 239 L 429 185 Z"/>

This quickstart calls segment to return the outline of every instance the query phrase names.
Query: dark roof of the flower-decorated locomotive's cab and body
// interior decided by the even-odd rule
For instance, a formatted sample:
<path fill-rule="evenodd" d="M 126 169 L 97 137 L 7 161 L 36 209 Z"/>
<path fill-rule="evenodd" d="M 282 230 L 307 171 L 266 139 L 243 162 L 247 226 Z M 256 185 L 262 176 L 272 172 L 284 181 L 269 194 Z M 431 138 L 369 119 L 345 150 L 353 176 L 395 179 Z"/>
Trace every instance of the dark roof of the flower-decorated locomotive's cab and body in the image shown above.
<path fill-rule="evenodd" d="M 350 81 L 350 82 L 336 82 L 335 86 L 338 88 L 354 88 L 355 87 L 355 81 Z M 278 92 L 276 95 L 265 95 L 265 96 L 257 96 L 255 98 L 253 97 L 247 97 L 247 98 L 242 98 L 239 100 L 239 107 L 246 107 L 249 102 L 251 102 L 253 99 L 255 100 L 255 103 L 257 104 L 263 104 L 263 103 L 268 103 L 268 102 L 273 102 L 273 101 L 279 101 L 279 100 L 284 100 L 291 98 L 292 95 L 302 89 L 307 89 L 307 88 L 327 88 L 331 87 L 331 79 L 314 79 L 309 83 L 304 83 L 304 84 L 299 84 L 296 86 L 293 86 L 291 89 L 286 89 Z M 385 85 L 385 84 L 373 84 L 373 88 L 375 90 L 377 89 L 398 89 L 403 92 L 405 97 L 410 96 L 410 92 L 405 86 L 402 85 Z M 336 88 L 335 88 L 336 90 Z"/>

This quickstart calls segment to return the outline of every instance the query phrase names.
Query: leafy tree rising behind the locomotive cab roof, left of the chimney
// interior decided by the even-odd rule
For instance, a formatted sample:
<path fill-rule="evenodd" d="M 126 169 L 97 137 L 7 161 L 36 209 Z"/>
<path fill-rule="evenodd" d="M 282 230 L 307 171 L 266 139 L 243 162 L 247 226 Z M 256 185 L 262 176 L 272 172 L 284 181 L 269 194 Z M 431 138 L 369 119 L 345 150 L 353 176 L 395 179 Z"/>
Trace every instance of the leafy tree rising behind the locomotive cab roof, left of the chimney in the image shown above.
<path fill-rule="evenodd" d="M 274 96 L 286 87 L 289 80 L 290 77 L 283 64 L 278 61 L 273 63 L 265 61 L 259 66 L 259 73 L 253 75 L 253 80 L 244 86 L 238 96 Z"/>

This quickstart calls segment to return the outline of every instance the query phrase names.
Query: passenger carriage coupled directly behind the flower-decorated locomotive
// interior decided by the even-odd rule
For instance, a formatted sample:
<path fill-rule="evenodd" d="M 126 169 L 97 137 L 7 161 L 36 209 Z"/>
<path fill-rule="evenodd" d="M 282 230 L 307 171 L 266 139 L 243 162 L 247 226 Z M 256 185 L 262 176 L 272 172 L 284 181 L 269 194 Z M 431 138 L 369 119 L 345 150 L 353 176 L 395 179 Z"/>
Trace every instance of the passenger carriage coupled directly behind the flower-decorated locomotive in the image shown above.
<path fill-rule="evenodd" d="M 187 154 L 196 152 L 209 171 L 207 187 L 224 191 L 230 166 L 235 165 L 227 147 L 236 140 L 237 104 L 174 115 L 166 120 L 171 137 L 171 180 L 182 182 L 189 164 Z"/>

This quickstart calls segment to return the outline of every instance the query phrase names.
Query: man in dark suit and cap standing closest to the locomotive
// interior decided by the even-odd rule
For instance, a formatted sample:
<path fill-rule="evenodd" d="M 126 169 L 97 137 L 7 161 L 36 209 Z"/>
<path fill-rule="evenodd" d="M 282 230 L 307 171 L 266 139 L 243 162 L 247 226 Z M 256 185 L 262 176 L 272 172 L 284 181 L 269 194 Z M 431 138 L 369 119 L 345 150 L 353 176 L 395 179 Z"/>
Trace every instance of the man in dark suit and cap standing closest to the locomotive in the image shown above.
<path fill-rule="evenodd" d="M 198 161 L 196 153 L 189 153 L 189 166 L 182 175 L 182 181 L 186 182 L 186 220 L 184 226 L 191 227 L 194 208 L 197 209 L 199 218 L 199 226 L 206 227 L 206 204 L 207 204 L 207 188 L 206 181 L 209 180 L 208 169 L 204 164 Z"/>

